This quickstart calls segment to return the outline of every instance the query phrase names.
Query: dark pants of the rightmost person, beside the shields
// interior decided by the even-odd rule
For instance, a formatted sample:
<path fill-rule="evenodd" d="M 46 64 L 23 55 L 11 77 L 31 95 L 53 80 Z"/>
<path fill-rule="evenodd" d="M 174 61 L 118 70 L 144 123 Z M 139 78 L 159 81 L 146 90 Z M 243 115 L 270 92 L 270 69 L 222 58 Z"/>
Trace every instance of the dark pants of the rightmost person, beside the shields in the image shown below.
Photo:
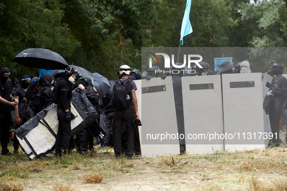
<path fill-rule="evenodd" d="M 279 120 L 282 109 L 283 109 L 282 99 L 275 99 L 270 107 L 269 112 L 270 127 L 273 134 L 271 142 L 273 144 L 277 144 L 279 140 Z"/>

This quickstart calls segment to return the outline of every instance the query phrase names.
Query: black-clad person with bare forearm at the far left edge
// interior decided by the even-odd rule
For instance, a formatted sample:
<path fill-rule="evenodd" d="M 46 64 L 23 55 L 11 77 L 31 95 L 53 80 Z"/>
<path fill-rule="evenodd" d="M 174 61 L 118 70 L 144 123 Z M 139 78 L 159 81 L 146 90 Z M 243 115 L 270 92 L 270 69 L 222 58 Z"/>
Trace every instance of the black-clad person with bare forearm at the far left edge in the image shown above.
<path fill-rule="evenodd" d="M 16 107 L 17 101 L 12 99 L 11 87 L 8 80 L 10 70 L 7 67 L 0 72 L 0 128 L 1 128 L 1 155 L 12 155 L 8 150 L 11 107 Z"/>

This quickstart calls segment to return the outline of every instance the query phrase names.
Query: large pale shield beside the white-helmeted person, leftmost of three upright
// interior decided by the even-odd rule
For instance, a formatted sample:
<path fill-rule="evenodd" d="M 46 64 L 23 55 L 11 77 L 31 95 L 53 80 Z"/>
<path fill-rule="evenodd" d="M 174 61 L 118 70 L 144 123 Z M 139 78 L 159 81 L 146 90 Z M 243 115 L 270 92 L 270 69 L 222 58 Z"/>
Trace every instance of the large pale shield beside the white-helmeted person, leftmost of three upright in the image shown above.
<path fill-rule="evenodd" d="M 141 87 L 141 89 L 139 89 Z M 171 77 L 141 80 L 141 154 L 146 157 L 179 154 Z"/>

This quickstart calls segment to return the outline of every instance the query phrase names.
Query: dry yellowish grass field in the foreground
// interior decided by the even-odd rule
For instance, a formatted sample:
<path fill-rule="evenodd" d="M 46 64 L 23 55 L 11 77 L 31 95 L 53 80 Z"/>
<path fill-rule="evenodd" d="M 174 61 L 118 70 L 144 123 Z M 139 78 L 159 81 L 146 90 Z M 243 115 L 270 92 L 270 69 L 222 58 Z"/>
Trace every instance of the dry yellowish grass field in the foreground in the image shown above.
<path fill-rule="evenodd" d="M 115 159 L 112 148 L 61 159 L 29 160 L 22 151 L 0 156 L 3 191 L 286 189 L 287 145 L 132 160 Z"/>

